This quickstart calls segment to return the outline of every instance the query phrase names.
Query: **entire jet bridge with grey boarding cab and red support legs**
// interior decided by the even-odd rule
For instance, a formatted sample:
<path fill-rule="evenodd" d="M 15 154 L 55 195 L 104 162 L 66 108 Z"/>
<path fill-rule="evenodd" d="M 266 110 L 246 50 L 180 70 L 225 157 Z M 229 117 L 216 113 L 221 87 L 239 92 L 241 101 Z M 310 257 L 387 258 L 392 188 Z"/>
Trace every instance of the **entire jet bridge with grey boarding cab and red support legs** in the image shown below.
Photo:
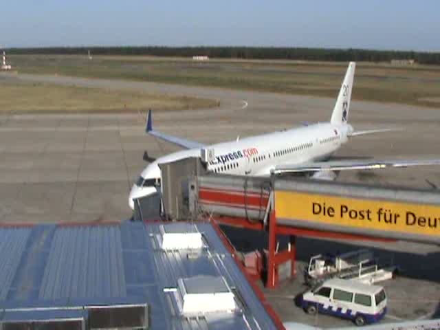
<path fill-rule="evenodd" d="M 440 243 L 436 190 L 218 175 L 207 173 L 197 157 L 160 167 L 160 201 L 154 201 L 160 208 L 154 219 L 210 220 L 267 231 L 267 287 L 295 275 L 296 236 Z M 142 205 L 142 200 L 135 203 L 135 219 L 146 219 Z M 277 235 L 289 237 L 287 250 L 278 250 Z"/>

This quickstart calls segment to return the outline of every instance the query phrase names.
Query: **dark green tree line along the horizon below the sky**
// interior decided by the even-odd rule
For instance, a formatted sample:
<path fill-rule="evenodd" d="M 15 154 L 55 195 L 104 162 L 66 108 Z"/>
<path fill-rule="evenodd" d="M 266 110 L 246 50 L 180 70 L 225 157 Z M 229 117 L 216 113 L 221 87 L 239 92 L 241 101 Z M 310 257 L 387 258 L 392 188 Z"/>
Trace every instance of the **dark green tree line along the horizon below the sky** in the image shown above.
<path fill-rule="evenodd" d="M 326 49 L 299 47 L 44 47 L 11 48 L 10 54 L 87 54 L 150 55 L 150 56 L 209 56 L 213 58 L 273 59 L 303 61 L 365 61 L 389 62 L 414 59 L 420 64 L 440 64 L 439 52 L 399 50 Z"/>

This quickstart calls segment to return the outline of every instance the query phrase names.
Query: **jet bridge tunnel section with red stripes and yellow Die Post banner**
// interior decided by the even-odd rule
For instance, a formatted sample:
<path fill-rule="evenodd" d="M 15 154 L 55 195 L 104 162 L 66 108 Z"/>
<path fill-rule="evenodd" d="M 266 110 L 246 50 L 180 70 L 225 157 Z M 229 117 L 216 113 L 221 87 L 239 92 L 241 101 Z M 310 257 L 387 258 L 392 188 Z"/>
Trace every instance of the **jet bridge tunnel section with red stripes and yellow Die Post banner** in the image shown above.
<path fill-rule="evenodd" d="M 251 225 L 267 227 L 273 212 L 298 230 L 440 244 L 437 190 L 232 175 L 195 177 L 192 186 L 199 212 Z"/>

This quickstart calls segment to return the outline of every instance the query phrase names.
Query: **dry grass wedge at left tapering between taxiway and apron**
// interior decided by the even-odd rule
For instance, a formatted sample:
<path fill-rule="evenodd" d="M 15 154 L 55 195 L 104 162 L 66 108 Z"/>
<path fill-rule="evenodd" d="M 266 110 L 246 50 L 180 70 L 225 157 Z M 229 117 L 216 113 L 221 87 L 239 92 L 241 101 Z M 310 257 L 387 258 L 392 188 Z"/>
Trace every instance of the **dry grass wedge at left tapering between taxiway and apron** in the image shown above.
<path fill-rule="evenodd" d="M 128 112 L 216 106 L 217 102 L 203 98 L 0 80 L 0 113 Z"/>

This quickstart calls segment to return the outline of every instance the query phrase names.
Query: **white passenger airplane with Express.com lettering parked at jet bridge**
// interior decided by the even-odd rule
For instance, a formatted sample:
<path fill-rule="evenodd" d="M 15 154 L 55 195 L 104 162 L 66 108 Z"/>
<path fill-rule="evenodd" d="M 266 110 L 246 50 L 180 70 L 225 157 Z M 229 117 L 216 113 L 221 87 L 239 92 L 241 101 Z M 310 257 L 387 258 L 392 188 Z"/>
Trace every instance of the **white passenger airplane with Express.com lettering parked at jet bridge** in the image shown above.
<path fill-rule="evenodd" d="M 269 176 L 299 173 L 313 179 L 336 179 L 341 170 L 367 170 L 388 167 L 439 165 L 440 159 L 426 160 L 329 160 L 342 144 L 351 137 L 374 134 L 395 129 L 355 131 L 348 124 L 355 62 L 350 62 L 342 82 L 329 122 L 305 124 L 284 131 L 245 137 L 219 144 L 205 145 L 185 140 L 153 129 L 151 110 L 148 112 L 146 133 L 160 140 L 177 144 L 185 150 L 170 153 L 153 160 L 137 179 L 129 195 L 129 206 L 134 209 L 134 199 L 152 195 L 160 189 L 162 179 L 157 164 L 174 162 L 187 157 L 200 157 L 209 151 L 206 162 L 208 172 L 230 175 Z M 148 155 L 147 155 L 148 157 Z"/>

